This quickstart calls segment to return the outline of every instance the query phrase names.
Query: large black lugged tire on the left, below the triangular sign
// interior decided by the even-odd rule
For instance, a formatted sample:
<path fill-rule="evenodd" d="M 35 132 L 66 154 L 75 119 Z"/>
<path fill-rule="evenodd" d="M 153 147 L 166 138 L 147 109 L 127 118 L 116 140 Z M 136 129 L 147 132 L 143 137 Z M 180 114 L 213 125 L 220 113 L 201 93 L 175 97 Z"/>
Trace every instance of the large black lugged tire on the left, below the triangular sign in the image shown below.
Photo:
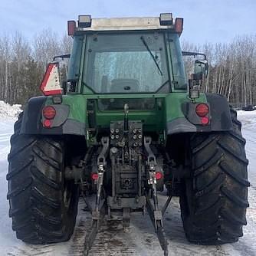
<path fill-rule="evenodd" d="M 19 135 L 15 123 L 8 155 L 12 228 L 31 244 L 67 241 L 77 216 L 78 188 L 64 181 L 64 143 L 54 137 Z"/>

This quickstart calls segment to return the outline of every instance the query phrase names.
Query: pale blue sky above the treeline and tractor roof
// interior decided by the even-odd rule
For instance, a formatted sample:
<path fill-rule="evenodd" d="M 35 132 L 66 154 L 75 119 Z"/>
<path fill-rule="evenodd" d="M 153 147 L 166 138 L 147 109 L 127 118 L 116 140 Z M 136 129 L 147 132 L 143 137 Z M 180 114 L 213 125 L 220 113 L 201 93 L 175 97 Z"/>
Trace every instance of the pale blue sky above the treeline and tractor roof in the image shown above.
<path fill-rule="evenodd" d="M 44 28 L 64 34 L 67 20 L 78 15 L 184 18 L 182 39 L 228 42 L 238 34 L 256 34 L 256 0 L 0 0 L 0 36 L 20 31 L 26 38 Z"/>

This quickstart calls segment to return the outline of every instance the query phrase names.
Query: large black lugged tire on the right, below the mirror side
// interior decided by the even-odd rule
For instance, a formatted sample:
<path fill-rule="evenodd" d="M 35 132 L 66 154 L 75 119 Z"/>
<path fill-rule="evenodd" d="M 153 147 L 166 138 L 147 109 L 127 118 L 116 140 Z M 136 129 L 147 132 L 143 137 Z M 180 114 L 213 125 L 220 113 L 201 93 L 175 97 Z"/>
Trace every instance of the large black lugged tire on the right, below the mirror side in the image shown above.
<path fill-rule="evenodd" d="M 238 241 L 246 225 L 248 160 L 241 123 L 231 109 L 233 130 L 192 136 L 192 175 L 183 183 L 182 221 L 189 241 L 218 245 Z"/>

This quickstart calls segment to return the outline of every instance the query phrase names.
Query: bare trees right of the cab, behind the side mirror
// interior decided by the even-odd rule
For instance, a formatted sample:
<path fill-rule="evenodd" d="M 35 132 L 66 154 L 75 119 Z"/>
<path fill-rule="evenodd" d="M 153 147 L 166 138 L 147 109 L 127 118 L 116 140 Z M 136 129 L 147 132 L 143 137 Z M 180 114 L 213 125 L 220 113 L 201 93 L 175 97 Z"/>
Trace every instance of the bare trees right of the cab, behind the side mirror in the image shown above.
<path fill-rule="evenodd" d="M 236 37 L 231 43 L 199 47 L 183 41 L 182 50 L 206 54 L 209 73 L 203 91 L 224 94 L 235 107 L 256 104 L 256 34 Z M 186 58 L 186 70 L 191 72 L 194 61 Z"/>

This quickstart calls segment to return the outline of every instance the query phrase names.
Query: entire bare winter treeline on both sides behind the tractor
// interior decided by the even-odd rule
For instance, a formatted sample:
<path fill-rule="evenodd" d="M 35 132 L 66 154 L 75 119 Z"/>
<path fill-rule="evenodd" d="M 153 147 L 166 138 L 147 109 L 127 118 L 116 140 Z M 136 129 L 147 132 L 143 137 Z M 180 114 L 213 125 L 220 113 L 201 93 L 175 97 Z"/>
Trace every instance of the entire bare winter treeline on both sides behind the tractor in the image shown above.
<path fill-rule="evenodd" d="M 28 42 L 22 34 L 0 38 L 0 100 L 24 104 L 41 94 L 38 87 L 45 68 L 55 55 L 71 52 L 72 39 L 59 38 L 51 30 L 34 35 Z M 202 45 L 182 41 L 183 51 L 208 57 L 209 73 L 203 91 L 224 94 L 235 107 L 256 104 L 256 34 L 234 38 L 231 43 Z M 184 57 L 192 73 L 193 57 Z"/>

